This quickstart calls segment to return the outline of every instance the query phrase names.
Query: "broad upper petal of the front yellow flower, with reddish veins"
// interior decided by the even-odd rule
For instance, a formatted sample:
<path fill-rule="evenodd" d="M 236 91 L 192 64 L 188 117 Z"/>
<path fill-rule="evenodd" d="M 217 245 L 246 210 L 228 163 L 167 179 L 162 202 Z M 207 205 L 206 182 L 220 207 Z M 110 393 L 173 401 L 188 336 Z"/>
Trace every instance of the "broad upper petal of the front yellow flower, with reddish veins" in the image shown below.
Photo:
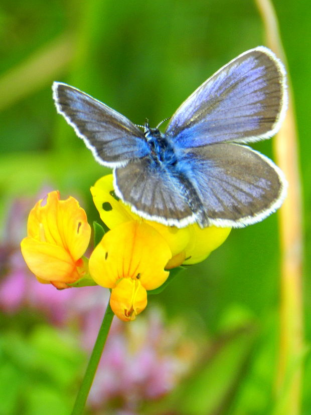
<path fill-rule="evenodd" d="M 97 284 L 113 288 L 122 278 L 139 279 L 146 290 L 158 288 L 172 257 L 165 239 L 149 225 L 131 221 L 107 232 L 94 249 L 89 271 Z"/>

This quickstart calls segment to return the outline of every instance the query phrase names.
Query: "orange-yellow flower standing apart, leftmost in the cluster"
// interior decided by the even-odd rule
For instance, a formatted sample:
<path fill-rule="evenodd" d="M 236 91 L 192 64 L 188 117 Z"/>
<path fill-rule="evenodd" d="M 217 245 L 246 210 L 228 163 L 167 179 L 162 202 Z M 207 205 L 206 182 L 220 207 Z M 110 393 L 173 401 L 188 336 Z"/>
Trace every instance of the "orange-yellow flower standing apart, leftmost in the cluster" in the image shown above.
<path fill-rule="evenodd" d="M 29 214 L 28 236 L 21 242 L 29 269 L 42 283 L 68 288 L 87 274 L 85 253 L 91 229 L 82 207 L 73 197 L 60 200 L 52 191 L 47 202 L 37 202 Z"/>

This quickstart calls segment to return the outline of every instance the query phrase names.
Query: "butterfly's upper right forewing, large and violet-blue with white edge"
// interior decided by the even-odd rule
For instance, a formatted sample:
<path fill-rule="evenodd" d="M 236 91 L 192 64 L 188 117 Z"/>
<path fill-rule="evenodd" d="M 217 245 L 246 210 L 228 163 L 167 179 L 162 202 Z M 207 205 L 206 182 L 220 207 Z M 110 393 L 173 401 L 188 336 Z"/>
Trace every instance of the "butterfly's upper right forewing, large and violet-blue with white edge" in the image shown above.
<path fill-rule="evenodd" d="M 166 133 L 182 148 L 271 137 L 287 103 L 285 69 L 264 47 L 244 52 L 178 108 Z"/>

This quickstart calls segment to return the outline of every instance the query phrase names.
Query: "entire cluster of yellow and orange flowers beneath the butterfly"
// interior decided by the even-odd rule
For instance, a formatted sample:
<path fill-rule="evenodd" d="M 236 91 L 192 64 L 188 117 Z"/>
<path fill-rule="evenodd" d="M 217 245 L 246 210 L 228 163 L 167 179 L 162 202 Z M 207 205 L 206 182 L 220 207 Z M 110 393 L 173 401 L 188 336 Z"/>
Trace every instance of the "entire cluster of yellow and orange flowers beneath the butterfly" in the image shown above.
<path fill-rule="evenodd" d="M 194 224 L 178 229 L 146 221 L 114 195 L 112 175 L 99 179 L 91 192 L 110 231 L 89 261 L 83 257 L 91 234 L 86 214 L 77 200 L 60 200 L 57 191 L 48 194 L 46 204 L 39 200 L 31 211 L 22 254 L 40 282 L 57 288 L 77 281 L 85 284 L 89 271 L 95 283 L 111 290 L 111 308 L 124 321 L 134 320 L 146 307 L 147 291 L 163 285 L 168 270 L 203 261 L 230 232 L 229 228 L 200 229 Z"/>

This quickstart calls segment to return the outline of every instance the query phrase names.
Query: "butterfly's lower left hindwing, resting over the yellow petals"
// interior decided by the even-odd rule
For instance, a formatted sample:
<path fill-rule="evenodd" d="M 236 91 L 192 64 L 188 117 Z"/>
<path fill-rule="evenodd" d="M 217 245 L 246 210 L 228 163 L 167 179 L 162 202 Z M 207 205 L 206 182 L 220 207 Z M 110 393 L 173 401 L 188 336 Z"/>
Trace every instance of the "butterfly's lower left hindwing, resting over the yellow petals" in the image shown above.
<path fill-rule="evenodd" d="M 116 194 L 139 216 L 178 228 L 196 221 L 177 178 L 149 157 L 132 160 L 113 174 Z"/>

